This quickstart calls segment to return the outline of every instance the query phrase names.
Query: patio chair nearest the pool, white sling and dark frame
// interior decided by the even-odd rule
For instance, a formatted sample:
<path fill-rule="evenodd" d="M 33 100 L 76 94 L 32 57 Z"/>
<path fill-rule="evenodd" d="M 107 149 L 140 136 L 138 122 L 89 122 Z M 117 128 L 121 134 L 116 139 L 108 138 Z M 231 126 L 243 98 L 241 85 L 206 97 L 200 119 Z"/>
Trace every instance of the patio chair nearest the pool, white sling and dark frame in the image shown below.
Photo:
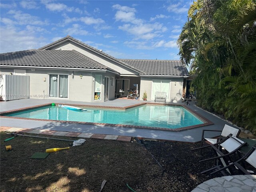
<path fill-rule="evenodd" d="M 219 136 L 216 136 L 214 138 L 206 138 L 204 137 L 204 133 L 205 132 L 221 132 Z M 238 137 L 238 135 L 240 134 L 241 130 L 231 127 L 227 124 L 224 125 L 224 128 L 222 129 L 222 131 L 220 130 L 203 130 L 202 132 L 202 139 L 201 139 L 201 147 L 199 148 L 195 148 L 192 150 L 197 150 L 197 149 L 201 149 L 201 153 L 202 153 L 202 148 L 203 144 L 216 144 L 217 142 L 219 142 L 220 140 L 222 140 L 222 138 L 225 138 L 226 136 L 228 136 L 229 134 L 232 134 L 234 137 Z"/>

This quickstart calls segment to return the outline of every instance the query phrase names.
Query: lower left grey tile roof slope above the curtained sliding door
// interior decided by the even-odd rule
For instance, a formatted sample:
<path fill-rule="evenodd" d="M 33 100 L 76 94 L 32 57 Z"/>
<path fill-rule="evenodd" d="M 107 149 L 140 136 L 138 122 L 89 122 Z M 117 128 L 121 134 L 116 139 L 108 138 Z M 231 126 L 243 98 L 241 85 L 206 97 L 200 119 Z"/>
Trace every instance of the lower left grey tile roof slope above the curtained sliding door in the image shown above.
<path fill-rule="evenodd" d="M 9 66 L 101 69 L 117 72 L 75 50 L 26 50 L 2 53 L 0 54 L 0 64 Z"/>

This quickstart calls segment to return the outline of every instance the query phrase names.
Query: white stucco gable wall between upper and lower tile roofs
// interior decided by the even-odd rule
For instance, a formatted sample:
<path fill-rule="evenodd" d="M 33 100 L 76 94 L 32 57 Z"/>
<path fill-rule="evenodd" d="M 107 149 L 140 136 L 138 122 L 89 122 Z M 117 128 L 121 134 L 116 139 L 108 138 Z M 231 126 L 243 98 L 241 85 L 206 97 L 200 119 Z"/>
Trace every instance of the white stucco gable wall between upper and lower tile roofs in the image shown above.
<path fill-rule="evenodd" d="M 99 63 L 108 66 L 109 68 L 112 68 L 121 74 L 127 74 L 127 75 L 138 75 L 139 73 L 127 68 L 126 66 L 122 66 L 121 64 L 118 64 L 117 62 L 114 62 L 108 58 L 105 58 L 104 56 L 101 56 L 100 54 L 97 54 L 93 52 L 92 50 L 88 50 L 87 48 L 84 48 L 83 46 L 76 44 L 71 41 L 66 41 L 61 44 L 58 44 L 56 46 L 51 47 L 50 49 L 62 49 L 62 50 L 76 50 L 90 58 L 92 58 L 95 61 L 98 61 Z"/>

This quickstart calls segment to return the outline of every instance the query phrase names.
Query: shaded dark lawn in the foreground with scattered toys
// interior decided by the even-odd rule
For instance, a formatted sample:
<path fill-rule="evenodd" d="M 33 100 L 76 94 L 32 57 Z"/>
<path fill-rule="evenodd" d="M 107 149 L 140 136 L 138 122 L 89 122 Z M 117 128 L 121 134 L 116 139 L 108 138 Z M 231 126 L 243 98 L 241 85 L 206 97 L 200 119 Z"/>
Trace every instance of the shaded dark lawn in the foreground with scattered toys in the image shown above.
<path fill-rule="evenodd" d="M 86 139 L 82 146 L 36 160 L 30 159 L 35 152 L 68 147 L 70 142 L 24 136 L 3 142 L 11 136 L 6 132 L 0 134 L 1 192 L 96 192 L 100 191 L 103 180 L 107 182 L 102 192 L 129 192 L 126 183 L 137 192 L 190 192 L 198 184 L 220 176 L 200 174 L 212 162 L 199 164 L 202 156 L 190 151 L 198 146 L 194 144 Z M 5 145 L 9 144 L 12 150 L 6 151 Z"/>

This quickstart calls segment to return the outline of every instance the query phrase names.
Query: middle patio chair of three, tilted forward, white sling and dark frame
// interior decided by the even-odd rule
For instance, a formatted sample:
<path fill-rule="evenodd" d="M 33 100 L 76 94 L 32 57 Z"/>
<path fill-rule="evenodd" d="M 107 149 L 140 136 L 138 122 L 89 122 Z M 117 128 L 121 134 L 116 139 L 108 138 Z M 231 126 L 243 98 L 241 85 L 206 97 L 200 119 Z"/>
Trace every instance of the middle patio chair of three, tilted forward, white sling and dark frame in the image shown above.
<path fill-rule="evenodd" d="M 206 172 L 209 172 L 214 169 L 220 170 L 222 167 L 226 167 L 228 165 L 228 161 L 231 160 L 230 156 L 235 154 L 236 152 L 238 152 L 238 150 L 240 148 L 242 148 L 243 146 L 245 146 L 246 144 L 247 144 L 246 142 L 244 142 L 244 141 L 232 136 L 232 134 L 230 134 L 226 138 L 221 140 L 220 142 L 218 142 L 216 144 L 209 145 L 214 150 L 214 153 L 216 154 L 216 156 L 213 158 L 200 160 L 199 162 L 204 162 L 204 161 L 208 161 L 208 160 L 219 160 L 220 164 L 217 164 L 213 168 L 205 170 L 201 173 L 206 173 Z M 208 147 L 208 146 L 204 146 L 204 147 Z M 224 154 L 222 152 L 221 148 L 224 148 L 224 150 L 226 150 L 227 153 Z M 224 170 L 226 170 L 229 174 L 232 174 L 232 171 L 229 170 L 228 168 L 221 169 L 220 172 L 222 172 L 222 174 L 224 176 L 226 176 Z"/>

